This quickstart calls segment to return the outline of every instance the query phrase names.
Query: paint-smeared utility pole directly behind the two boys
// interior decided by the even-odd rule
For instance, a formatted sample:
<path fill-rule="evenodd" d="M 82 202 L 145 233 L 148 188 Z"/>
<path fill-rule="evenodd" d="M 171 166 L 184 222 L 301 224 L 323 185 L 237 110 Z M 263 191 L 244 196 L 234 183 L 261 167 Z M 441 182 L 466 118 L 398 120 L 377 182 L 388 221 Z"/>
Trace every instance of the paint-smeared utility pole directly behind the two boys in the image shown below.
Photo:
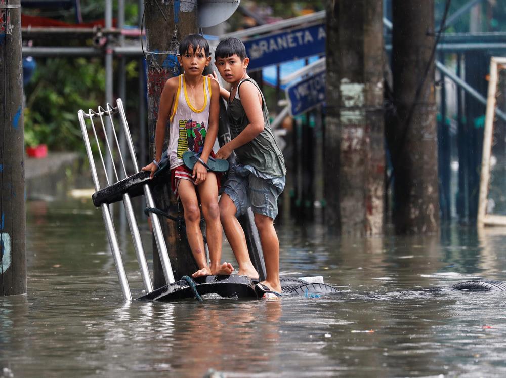
<path fill-rule="evenodd" d="M 184 36 L 194 34 L 198 30 L 197 0 L 146 2 L 145 8 L 148 138 L 152 159 L 155 152 L 155 128 L 161 91 L 167 79 L 180 74 L 176 57 L 179 42 Z M 164 149 L 168 144 L 169 133 L 167 132 L 165 136 Z M 163 188 L 155 189 L 154 197 L 161 198 L 157 202 L 158 208 L 171 209 L 172 214 L 176 213 L 178 203 L 172 194 L 170 182 Z M 182 275 L 195 272 L 198 267 L 191 254 L 184 231 L 171 220 L 166 220 L 162 226 L 166 235 L 165 240 L 174 277 L 179 279 Z M 154 242 L 153 249 L 156 250 Z M 165 280 L 156 252 L 153 253 L 153 270 L 154 287 L 163 286 Z"/>

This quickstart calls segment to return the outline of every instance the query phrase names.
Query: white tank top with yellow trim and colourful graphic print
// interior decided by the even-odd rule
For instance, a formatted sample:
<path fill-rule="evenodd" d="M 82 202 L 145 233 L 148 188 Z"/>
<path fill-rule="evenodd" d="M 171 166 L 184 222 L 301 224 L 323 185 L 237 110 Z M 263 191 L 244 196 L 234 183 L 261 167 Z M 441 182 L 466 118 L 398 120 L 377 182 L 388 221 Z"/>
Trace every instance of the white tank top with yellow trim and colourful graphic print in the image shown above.
<path fill-rule="evenodd" d="M 209 105 L 211 102 L 211 79 L 202 76 L 204 105 L 195 109 L 188 99 L 185 75 L 179 76 L 179 87 L 171 114 L 168 158 L 171 170 L 183 165 L 183 153 L 202 152 L 209 125 Z"/>

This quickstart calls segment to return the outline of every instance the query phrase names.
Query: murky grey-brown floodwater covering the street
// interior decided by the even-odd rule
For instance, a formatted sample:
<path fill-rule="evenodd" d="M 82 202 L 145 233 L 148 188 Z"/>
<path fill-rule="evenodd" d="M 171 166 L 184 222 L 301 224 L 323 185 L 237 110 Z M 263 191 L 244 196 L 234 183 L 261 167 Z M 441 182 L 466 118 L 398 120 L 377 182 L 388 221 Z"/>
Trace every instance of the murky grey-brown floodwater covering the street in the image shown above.
<path fill-rule="evenodd" d="M 323 275 L 343 292 L 124 302 L 91 200 L 28 202 L 28 294 L 0 297 L 0 376 L 506 376 L 506 293 L 449 289 L 506 279 L 506 231 L 340 240 L 318 225 L 277 230 L 282 274 Z"/>

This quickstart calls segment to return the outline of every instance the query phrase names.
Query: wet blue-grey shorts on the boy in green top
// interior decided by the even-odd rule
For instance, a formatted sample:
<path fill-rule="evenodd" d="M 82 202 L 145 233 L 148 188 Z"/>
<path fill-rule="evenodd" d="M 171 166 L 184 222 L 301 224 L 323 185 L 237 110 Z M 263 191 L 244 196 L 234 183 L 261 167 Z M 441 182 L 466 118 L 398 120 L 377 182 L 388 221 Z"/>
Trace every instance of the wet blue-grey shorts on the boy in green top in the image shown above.
<path fill-rule="evenodd" d="M 249 165 L 236 163 L 228 172 L 223 192 L 234 202 L 236 216 L 251 207 L 252 212 L 274 219 L 278 215 L 278 197 L 284 186 L 284 176 L 270 177 Z"/>

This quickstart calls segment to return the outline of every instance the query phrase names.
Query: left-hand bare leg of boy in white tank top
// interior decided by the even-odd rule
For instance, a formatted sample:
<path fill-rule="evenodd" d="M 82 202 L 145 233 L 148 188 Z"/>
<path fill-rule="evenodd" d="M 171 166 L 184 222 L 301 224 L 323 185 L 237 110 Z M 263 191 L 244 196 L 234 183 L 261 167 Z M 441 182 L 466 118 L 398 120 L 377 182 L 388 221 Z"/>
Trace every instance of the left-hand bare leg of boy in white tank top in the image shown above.
<path fill-rule="evenodd" d="M 200 208 L 198 207 L 195 185 L 189 180 L 180 180 L 178 193 L 185 211 L 186 236 L 199 268 L 192 274 L 192 277 L 209 276 L 211 271 L 207 266 L 204 241 L 202 231 L 200 231 Z"/>

